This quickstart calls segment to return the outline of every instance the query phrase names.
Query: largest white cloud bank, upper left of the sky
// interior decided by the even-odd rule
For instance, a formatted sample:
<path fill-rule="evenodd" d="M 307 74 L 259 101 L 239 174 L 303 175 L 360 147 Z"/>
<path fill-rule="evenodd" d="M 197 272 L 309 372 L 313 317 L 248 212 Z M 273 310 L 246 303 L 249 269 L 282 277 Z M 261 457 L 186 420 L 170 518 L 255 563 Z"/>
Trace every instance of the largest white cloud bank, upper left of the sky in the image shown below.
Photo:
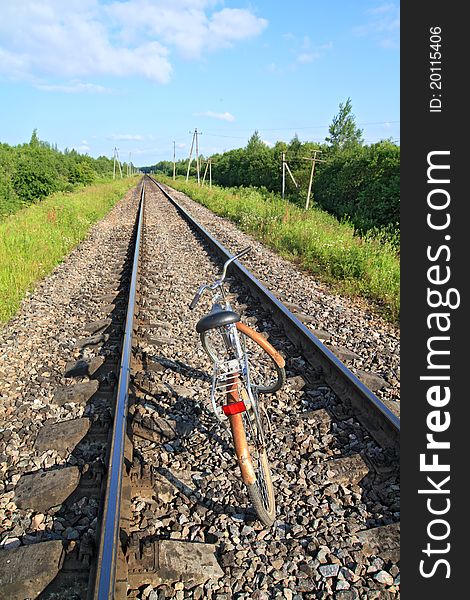
<path fill-rule="evenodd" d="M 173 48 L 186 58 L 197 58 L 259 35 L 267 25 L 250 10 L 218 10 L 216 4 L 214 0 L 5 2 L 0 75 L 66 93 L 103 91 L 77 83 L 100 75 L 141 76 L 164 84 L 173 71 Z M 44 81 L 52 76 L 54 84 Z M 59 78 L 72 83 L 61 85 Z"/>

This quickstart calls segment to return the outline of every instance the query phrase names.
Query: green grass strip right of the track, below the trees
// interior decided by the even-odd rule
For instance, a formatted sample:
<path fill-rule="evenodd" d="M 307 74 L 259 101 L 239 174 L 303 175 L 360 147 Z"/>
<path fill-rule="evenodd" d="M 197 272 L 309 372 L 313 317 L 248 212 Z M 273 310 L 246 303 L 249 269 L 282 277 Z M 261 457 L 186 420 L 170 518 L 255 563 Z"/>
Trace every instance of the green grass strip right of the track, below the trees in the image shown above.
<path fill-rule="evenodd" d="M 314 273 L 344 295 L 366 298 L 389 321 L 400 314 L 400 261 L 392 243 L 360 238 L 316 207 L 308 211 L 255 188 L 199 187 L 159 180 L 234 221 L 266 246 Z"/>

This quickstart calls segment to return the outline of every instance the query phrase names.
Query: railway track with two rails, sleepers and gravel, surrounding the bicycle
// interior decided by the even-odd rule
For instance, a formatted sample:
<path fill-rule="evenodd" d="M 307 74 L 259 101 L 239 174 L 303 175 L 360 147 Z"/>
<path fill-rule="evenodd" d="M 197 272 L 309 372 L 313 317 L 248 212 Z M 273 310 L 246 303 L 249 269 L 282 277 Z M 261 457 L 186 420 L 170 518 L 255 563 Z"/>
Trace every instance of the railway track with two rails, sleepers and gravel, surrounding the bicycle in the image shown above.
<path fill-rule="evenodd" d="M 145 178 L 141 189 L 128 227 L 139 259 L 123 237 L 105 318 L 86 324 L 68 385 L 55 391 L 83 413 L 35 436 L 36 456 L 65 438 L 66 458 L 7 472 L 11 509 L 26 517 L 3 536 L 0 597 L 398 597 L 395 412 L 240 265 L 232 304 L 287 363 L 270 402 L 279 514 L 263 529 L 210 411 L 210 367 L 187 308 L 224 250 L 181 218 L 166 188 Z M 38 515 L 45 526 L 34 529 Z M 31 565 L 23 579 L 12 559 Z"/>

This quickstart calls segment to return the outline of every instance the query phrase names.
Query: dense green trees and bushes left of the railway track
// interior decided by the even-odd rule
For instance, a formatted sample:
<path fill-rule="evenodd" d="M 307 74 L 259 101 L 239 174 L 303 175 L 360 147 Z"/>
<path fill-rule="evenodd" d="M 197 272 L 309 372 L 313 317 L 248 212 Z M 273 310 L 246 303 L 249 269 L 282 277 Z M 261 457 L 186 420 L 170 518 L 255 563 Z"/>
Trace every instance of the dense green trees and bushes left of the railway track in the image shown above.
<path fill-rule="evenodd" d="M 27 144 L 0 143 L 0 216 L 41 200 L 52 192 L 71 191 L 113 173 L 113 160 L 63 152 L 41 141 L 34 130 Z"/>

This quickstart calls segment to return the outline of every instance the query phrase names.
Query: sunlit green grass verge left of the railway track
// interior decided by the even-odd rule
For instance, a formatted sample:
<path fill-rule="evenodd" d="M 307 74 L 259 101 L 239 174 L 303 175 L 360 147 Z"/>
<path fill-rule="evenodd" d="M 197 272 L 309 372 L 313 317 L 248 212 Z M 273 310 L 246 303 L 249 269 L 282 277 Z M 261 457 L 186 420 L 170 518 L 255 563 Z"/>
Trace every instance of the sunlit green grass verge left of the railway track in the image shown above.
<path fill-rule="evenodd" d="M 0 222 L 0 322 L 134 186 L 136 178 L 53 194 Z"/>

